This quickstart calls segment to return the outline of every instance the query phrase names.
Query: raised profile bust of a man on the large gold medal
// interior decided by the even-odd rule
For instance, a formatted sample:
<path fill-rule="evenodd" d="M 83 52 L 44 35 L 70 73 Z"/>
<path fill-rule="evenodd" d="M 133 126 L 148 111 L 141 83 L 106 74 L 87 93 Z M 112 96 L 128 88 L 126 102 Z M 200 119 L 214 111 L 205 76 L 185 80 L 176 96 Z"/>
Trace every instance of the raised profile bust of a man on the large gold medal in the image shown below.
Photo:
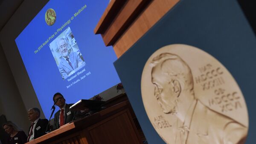
<path fill-rule="evenodd" d="M 165 115 L 177 117 L 175 144 L 244 144 L 247 126 L 196 98 L 192 71 L 180 56 L 161 53 L 150 66 L 155 99 Z"/>

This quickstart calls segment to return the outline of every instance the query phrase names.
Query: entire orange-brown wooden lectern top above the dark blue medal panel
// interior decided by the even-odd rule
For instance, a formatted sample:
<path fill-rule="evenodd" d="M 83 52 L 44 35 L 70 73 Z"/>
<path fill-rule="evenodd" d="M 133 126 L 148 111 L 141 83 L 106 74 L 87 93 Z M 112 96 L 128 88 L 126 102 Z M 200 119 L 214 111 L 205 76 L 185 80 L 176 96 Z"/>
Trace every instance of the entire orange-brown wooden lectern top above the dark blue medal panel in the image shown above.
<path fill-rule="evenodd" d="M 111 0 L 94 29 L 119 58 L 180 0 Z"/>

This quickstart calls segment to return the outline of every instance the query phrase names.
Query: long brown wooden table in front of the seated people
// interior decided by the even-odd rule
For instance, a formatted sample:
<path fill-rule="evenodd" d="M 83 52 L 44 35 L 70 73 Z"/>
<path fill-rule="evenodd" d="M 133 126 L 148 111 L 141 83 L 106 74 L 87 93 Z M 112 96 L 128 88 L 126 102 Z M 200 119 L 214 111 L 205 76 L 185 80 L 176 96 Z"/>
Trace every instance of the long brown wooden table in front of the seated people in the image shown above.
<path fill-rule="evenodd" d="M 26 144 L 142 144 L 130 108 L 115 104 Z"/>

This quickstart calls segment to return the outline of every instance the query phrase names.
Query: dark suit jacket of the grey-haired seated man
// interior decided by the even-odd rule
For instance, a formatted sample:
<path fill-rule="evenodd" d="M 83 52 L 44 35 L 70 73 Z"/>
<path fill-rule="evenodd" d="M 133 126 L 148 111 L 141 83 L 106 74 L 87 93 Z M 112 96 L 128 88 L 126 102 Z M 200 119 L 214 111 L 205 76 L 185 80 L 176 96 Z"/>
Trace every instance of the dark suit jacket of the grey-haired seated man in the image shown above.
<path fill-rule="evenodd" d="M 35 125 L 35 134 L 34 134 L 34 139 L 35 138 L 39 138 L 41 136 L 44 136 L 46 133 L 46 127 L 48 125 L 49 121 L 47 119 L 39 119 L 38 122 Z M 40 127 L 38 130 L 37 128 Z M 29 127 L 29 132 L 30 132 L 30 128 Z"/>

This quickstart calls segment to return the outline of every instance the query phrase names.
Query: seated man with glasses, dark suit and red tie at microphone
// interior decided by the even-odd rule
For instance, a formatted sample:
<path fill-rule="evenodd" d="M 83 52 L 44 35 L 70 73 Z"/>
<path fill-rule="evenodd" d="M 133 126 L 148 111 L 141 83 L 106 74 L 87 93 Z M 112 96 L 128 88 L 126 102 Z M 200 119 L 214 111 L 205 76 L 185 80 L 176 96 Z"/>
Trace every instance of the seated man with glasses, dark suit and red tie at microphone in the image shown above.
<path fill-rule="evenodd" d="M 73 104 L 66 104 L 66 100 L 61 93 L 54 94 L 53 102 L 56 102 L 56 105 L 60 108 L 54 115 L 54 129 L 58 129 L 64 124 L 70 123 L 79 115 L 79 111 L 69 109 Z"/>

